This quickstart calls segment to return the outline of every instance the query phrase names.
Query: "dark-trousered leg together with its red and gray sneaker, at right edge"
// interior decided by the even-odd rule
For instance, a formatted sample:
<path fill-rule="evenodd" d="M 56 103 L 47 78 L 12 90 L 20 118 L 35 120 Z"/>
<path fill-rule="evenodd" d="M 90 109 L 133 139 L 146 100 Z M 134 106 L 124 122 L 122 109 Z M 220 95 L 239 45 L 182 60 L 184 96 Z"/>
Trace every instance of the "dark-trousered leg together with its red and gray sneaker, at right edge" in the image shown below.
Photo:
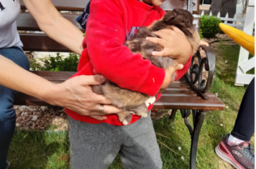
<path fill-rule="evenodd" d="M 255 132 L 255 79 L 247 87 L 231 135 L 216 146 L 216 154 L 235 168 L 255 168 L 255 155 L 249 141 Z"/>

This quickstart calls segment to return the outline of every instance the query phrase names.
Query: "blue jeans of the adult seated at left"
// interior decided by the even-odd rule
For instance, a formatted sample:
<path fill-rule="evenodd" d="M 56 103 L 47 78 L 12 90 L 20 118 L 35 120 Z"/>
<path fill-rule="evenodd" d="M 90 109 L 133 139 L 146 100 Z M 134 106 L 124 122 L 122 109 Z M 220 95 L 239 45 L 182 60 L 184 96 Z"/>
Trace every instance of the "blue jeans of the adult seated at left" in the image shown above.
<path fill-rule="evenodd" d="M 0 49 L 0 54 L 12 60 L 20 67 L 29 70 L 29 61 L 19 47 Z M 17 91 L 0 85 L 0 168 L 7 167 L 7 153 L 16 124 L 16 114 L 13 105 L 17 95 Z"/>

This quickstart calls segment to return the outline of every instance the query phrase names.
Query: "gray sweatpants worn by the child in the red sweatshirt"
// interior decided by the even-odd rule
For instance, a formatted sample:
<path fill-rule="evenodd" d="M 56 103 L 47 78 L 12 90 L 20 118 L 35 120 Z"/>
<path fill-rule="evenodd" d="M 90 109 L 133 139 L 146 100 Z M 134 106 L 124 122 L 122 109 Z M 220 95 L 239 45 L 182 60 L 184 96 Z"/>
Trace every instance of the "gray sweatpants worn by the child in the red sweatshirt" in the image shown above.
<path fill-rule="evenodd" d="M 105 169 L 117 153 L 125 169 L 162 168 L 150 112 L 132 125 L 90 124 L 69 117 L 72 169 Z"/>

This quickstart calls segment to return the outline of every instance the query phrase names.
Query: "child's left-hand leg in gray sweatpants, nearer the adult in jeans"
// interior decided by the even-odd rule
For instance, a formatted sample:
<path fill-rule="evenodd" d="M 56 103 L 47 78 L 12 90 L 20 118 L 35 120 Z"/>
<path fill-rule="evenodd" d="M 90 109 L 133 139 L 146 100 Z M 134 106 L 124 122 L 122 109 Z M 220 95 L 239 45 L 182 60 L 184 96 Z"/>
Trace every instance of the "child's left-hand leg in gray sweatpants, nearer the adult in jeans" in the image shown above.
<path fill-rule="evenodd" d="M 119 126 L 90 124 L 68 118 L 72 169 L 107 169 L 122 144 Z"/>

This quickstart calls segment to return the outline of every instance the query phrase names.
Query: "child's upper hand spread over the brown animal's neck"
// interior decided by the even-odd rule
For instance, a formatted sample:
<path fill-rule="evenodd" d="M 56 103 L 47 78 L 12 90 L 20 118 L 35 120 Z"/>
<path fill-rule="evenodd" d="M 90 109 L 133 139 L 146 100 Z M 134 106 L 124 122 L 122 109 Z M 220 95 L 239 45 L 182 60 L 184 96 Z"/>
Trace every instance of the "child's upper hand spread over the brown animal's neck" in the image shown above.
<path fill-rule="evenodd" d="M 176 59 L 179 64 L 186 64 L 191 56 L 192 47 L 188 42 L 185 34 L 180 31 L 176 26 L 172 26 L 171 29 L 161 29 L 158 32 L 154 32 L 161 38 L 147 37 L 149 42 L 159 44 L 164 49 L 160 52 L 152 52 L 152 56 L 155 57 L 170 57 Z"/>

